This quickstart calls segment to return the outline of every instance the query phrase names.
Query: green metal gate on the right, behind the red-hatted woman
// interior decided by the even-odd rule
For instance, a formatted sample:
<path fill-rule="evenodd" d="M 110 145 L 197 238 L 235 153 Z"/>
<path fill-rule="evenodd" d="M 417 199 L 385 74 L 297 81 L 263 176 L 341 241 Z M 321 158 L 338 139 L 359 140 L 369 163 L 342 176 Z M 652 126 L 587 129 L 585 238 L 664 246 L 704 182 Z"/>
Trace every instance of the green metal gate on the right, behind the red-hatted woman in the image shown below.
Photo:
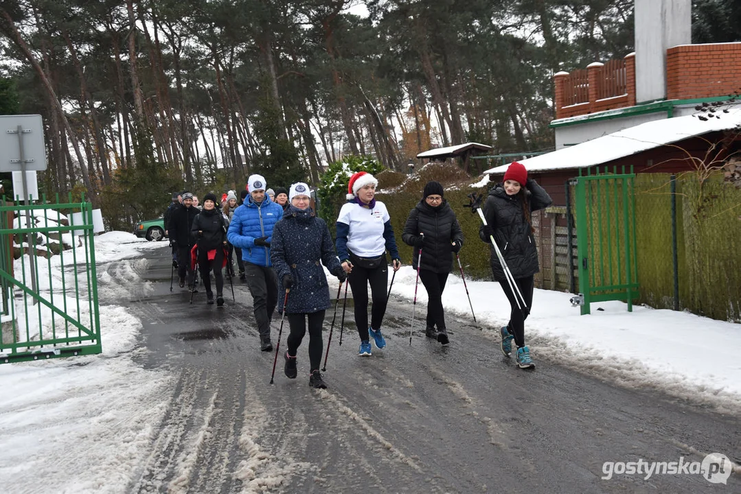
<path fill-rule="evenodd" d="M 628 311 L 638 296 L 636 208 L 632 167 L 586 169 L 571 180 L 576 209 L 579 297 L 582 315 L 591 302 L 622 300 Z"/>

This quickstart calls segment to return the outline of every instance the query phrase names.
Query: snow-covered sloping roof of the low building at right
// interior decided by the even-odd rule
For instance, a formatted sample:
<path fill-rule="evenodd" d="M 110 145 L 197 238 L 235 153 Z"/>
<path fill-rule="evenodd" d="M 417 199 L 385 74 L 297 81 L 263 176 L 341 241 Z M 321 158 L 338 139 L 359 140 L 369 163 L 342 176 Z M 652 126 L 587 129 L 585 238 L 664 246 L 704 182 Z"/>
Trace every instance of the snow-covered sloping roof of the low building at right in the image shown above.
<path fill-rule="evenodd" d="M 711 118 L 708 121 L 702 121 L 697 116 L 687 115 L 673 119 L 648 121 L 645 124 L 519 162 L 531 172 L 593 167 L 687 138 L 733 129 L 738 125 L 741 125 L 741 105 L 728 109 L 728 113 L 720 113 L 718 119 Z M 509 164 L 504 164 L 486 170 L 484 173 L 505 173 L 508 167 Z"/>

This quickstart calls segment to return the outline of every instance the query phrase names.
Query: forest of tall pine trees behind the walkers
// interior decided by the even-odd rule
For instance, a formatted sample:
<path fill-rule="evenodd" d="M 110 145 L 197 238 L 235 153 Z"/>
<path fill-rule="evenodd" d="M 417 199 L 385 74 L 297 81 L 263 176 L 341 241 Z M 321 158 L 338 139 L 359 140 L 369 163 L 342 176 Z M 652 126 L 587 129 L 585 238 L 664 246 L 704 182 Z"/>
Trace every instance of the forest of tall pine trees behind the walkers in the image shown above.
<path fill-rule="evenodd" d="M 741 1 L 692 4 L 693 42 L 741 40 Z M 0 0 L 0 115 L 43 116 L 43 192 L 130 230 L 250 173 L 551 150 L 554 73 L 622 59 L 633 30 L 633 0 Z"/>

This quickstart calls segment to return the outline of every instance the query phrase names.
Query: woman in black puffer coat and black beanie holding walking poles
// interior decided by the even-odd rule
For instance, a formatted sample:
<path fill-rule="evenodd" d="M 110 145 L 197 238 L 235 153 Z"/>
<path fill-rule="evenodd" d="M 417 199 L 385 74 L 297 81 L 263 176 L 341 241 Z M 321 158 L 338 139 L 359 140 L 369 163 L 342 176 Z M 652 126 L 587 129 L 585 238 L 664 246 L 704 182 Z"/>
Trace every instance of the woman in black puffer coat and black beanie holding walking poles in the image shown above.
<path fill-rule="evenodd" d="M 445 328 L 445 313 L 442 309 L 442 292 L 453 267 L 453 253 L 463 246 L 461 226 L 453 213 L 451 205 L 443 197 L 442 185 L 429 181 L 419 201 L 409 212 L 404 225 L 402 240 L 414 247 L 412 267 L 419 264 L 419 279 L 428 294 L 427 328 L 425 334 L 436 338 L 441 344 L 448 344 L 448 331 Z M 419 250 L 422 249 L 422 261 Z M 435 329 L 437 327 L 437 329 Z"/>

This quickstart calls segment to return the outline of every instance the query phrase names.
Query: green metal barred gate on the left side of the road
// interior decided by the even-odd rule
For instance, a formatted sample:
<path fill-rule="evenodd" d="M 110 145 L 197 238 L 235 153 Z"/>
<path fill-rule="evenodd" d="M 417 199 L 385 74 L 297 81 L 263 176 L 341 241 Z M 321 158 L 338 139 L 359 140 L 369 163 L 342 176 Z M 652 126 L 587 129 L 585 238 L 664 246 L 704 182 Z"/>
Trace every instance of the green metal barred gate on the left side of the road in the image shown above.
<path fill-rule="evenodd" d="M 0 364 L 102 351 L 92 205 L 46 202 L 0 203 Z"/>

